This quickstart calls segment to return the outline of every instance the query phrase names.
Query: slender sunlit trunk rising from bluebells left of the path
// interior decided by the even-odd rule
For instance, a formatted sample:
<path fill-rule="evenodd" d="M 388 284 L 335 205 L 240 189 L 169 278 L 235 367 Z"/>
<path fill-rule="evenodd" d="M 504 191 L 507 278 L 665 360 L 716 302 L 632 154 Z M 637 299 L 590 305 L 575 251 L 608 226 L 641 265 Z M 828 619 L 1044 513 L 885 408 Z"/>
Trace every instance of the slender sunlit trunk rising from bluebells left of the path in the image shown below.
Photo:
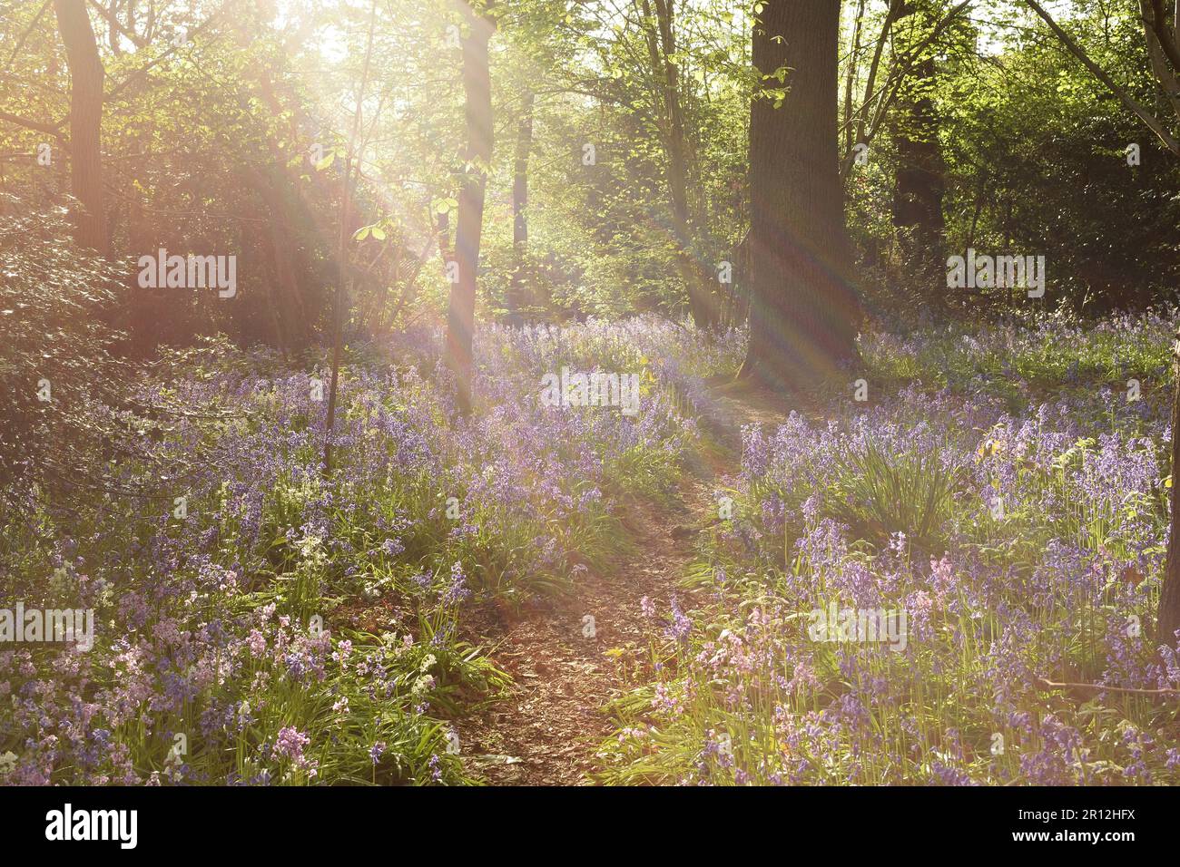
<path fill-rule="evenodd" d="M 446 362 L 455 377 L 459 409 L 471 412 L 471 340 L 476 328 L 476 270 L 479 265 L 479 236 L 484 224 L 484 193 L 487 166 L 492 159 L 492 83 L 487 68 L 487 42 L 494 24 L 468 6 L 464 7 L 467 34 L 463 38 L 463 87 L 468 165 L 459 190 L 459 225 L 454 252 L 459 281 L 451 287 L 447 311 Z"/>

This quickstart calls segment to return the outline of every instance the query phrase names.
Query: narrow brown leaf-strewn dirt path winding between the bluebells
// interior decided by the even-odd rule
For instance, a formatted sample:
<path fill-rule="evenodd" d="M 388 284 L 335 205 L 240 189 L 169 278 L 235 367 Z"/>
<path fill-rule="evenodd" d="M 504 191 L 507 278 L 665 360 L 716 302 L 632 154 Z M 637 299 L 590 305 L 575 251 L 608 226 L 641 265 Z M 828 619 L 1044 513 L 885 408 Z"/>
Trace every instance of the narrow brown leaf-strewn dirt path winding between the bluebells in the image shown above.
<path fill-rule="evenodd" d="M 702 427 L 717 446 L 695 452 L 673 494 L 632 501 L 623 515 L 631 546 L 607 573 L 591 570 L 563 596 L 517 615 L 502 612 L 493 662 L 513 679 L 506 698 L 457 721 L 468 770 L 497 786 L 592 784 L 597 753 L 610 735 L 607 704 L 629 687 L 623 675 L 648 657 L 641 600 L 661 616 L 695 557 L 697 534 L 716 519 L 714 488 L 740 466 L 741 427 L 774 423 L 785 410 L 735 383 L 710 387 Z M 589 635 L 589 617 L 594 635 Z"/>

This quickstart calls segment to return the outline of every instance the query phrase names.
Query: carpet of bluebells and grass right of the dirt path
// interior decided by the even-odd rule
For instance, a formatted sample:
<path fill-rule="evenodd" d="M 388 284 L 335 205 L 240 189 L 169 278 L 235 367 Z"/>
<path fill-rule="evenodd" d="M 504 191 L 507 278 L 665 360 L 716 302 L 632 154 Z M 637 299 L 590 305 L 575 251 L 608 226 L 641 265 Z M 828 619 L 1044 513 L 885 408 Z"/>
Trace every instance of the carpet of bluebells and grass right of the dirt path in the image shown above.
<path fill-rule="evenodd" d="M 970 336 L 972 363 L 1020 360 L 1069 336 L 1079 363 L 1055 362 L 1074 377 L 1068 387 L 1043 389 L 1015 368 L 977 372 L 911 381 L 868 405 L 835 395 L 824 420 L 792 414 L 747 428 L 729 480 L 735 517 L 719 520 L 713 580 L 697 583 L 702 606 L 690 630 L 658 636 L 676 664 L 656 666 L 642 688 L 648 711 L 621 722 L 615 750 L 628 774 L 667 780 L 673 768 L 680 782 L 730 784 L 1180 781 L 1168 691 L 1180 690 L 1180 637 L 1150 630 L 1167 545 L 1167 381 L 1127 401 L 1121 372 L 1092 363 L 1092 377 L 1106 379 L 1076 375 L 1079 359 L 1133 357 L 1156 337 L 1166 352 L 1166 335 L 1154 315 L 1093 334 L 1055 322 L 997 328 Z M 883 366 L 905 369 L 956 340 L 868 343 Z M 1023 395 L 1015 409 L 1014 394 Z M 929 508 L 898 491 L 930 493 Z M 815 641 L 808 624 L 828 606 L 905 612 L 907 641 Z M 674 606 L 670 622 L 683 617 Z M 1044 681 L 1092 688 L 1075 695 Z M 1092 712 L 1090 699 L 1106 711 Z"/>

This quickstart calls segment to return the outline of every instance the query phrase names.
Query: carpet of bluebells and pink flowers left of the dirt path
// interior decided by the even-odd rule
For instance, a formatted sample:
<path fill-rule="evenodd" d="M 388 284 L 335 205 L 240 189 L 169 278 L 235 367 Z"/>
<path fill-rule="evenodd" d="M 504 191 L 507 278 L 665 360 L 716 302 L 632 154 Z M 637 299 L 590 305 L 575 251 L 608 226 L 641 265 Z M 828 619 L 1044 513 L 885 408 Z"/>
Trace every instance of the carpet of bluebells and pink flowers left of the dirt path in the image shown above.
<path fill-rule="evenodd" d="M 93 607 L 97 633 L 90 652 L 0 648 L 0 782 L 463 779 L 431 717 L 494 671 L 458 650 L 463 611 L 576 574 L 566 556 L 611 545 L 617 497 L 694 436 L 658 372 L 634 418 L 543 407 L 537 383 L 575 356 L 648 369 L 673 335 L 489 328 L 470 418 L 438 334 L 406 335 L 345 369 L 330 475 L 322 372 L 234 353 L 146 382 L 144 402 L 185 410 L 150 459 L 112 461 L 81 515 L 33 497 L 0 527 L 6 591 Z"/>

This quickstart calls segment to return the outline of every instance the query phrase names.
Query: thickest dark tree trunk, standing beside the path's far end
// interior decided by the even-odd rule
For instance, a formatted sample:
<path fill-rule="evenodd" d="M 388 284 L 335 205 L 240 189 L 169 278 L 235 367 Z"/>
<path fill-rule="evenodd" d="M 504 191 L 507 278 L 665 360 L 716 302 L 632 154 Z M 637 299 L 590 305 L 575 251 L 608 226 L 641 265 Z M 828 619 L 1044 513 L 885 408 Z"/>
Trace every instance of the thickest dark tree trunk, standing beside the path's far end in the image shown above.
<path fill-rule="evenodd" d="M 754 26 L 754 66 L 787 67 L 776 109 L 750 109 L 750 337 L 742 373 L 787 393 L 857 357 L 837 153 L 839 0 L 768 0 Z M 772 79 L 769 84 L 774 84 Z"/>

